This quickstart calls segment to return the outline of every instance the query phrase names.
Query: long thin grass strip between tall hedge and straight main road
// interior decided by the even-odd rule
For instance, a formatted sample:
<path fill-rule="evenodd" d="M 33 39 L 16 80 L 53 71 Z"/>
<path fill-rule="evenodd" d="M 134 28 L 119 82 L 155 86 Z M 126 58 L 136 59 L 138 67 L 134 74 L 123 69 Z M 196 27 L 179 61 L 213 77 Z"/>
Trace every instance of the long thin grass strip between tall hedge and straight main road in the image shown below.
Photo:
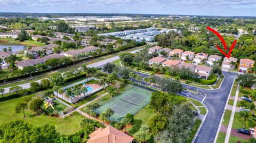
<path fill-rule="evenodd" d="M 86 64 L 92 64 L 92 63 L 95 63 L 95 62 L 99 62 L 99 61 L 102 61 L 102 60 L 106 60 L 110 57 L 114 57 L 114 56 L 117 56 L 121 53 L 124 53 L 124 52 L 131 52 L 131 51 L 134 51 L 134 50 L 137 50 L 137 49 L 140 49 L 140 48 L 143 48 L 143 47 L 146 47 L 148 45 L 143 45 L 143 46 L 140 46 L 140 47 L 135 47 L 135 48 L 131 48 L 129 50 L 126 50 L 126 51 L 121 51 L 121 52 L 117 52 L 115 54 L 111 54 L 111 55 L 108 55 L 108 56 L 103 56 L 103 57 L 99 57 L 99 58 L 94 58 L 94 59 L 91 59 L 87 62 L 85 62 Z M 55 72 L 55 73 L 63 73 L 63 72 L 66 72 L 66 71 L 69 71 L 70 69 L 72 68 L 79 68 L 81 67 L 81 65 L 84 64 L 84 63 L 80 63 L 80 64 L 77 64 L 77 65 L 74 65 L 74 66 L 69 66 L 67 68 L 62 68 L 62 69 L 58 69 L 58 70 L 61 70 L 61 71 L 58 71 L 58 72 Z M 38 77 L 38 78 L 34 78 L 34 79 L 29 79 L 29 78 L 24 78 L 24 79 L 28 79 L 28 80 L 23 80 L 22 81 L 19 81 L 19 82 L 15 82 L 15 83 L 8 83 L 6 85 L 2 85 L 0 86 L 0 88 L 6 88 L 6 87 L 12 87 L 12 86 L 17 86 L 17 85 L 21 85 L 23 83 L 28 83 L 28 82 L 33 82 L 33 81 L 36 81 L 36 80 L 39 80 L 39 79 L 44 79 L 44 78 L 47 78 L 49 76 L 51 76 L 51 74 L 53 73 L 50 73 L 50 72 L 46 72 L 46 73 L 43 73 L 43 74 L 38 74 L 38 75 L 35 75 L 34 77 L 38 77 L 39 75 L 45 75 L 45 76 L 41 76 L 41 77 Z"/>

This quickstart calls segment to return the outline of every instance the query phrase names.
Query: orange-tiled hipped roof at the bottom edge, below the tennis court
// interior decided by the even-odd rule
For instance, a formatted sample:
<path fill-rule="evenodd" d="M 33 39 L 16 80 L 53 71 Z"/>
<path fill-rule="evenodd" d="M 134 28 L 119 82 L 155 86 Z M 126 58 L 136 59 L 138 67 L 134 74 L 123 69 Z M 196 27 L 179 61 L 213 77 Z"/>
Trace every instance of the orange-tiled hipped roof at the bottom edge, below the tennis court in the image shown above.
<path fill-rule="evenodd" d="M 99 128 L 89 135 L 87 143 L 132 143 L 132 137 L 109 125 L 105 129 Z"/>

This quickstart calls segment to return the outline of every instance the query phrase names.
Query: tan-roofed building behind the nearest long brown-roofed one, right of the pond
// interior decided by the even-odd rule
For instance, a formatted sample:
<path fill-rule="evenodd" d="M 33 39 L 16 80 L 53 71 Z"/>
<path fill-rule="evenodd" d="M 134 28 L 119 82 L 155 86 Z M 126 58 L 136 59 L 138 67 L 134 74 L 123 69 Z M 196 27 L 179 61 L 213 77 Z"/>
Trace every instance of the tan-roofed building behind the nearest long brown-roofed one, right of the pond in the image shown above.
<path fill-rule="evenodd" d="M 57 44 L 49 44 L 41 47 L 32 47 L 31 49 L 25 49 L 24 53 L 29 53 L 33 55 L 34 57 L 40 57 L 38 55 L 38 52 L 41 51 L 43 53 L 43 56 L 52 54 L 52 50 L 54 47 L 57 47 Z"/>

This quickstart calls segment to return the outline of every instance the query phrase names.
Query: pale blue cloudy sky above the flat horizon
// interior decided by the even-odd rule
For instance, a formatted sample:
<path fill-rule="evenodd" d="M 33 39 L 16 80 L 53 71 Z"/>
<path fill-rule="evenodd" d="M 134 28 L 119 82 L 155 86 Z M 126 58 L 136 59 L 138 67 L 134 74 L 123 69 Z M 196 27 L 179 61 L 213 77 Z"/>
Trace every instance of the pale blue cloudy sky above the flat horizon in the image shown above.
<path fill-rule="evenodd" d="M 255 16 L 256 0 L 0 0 L 0 12 Z"/>

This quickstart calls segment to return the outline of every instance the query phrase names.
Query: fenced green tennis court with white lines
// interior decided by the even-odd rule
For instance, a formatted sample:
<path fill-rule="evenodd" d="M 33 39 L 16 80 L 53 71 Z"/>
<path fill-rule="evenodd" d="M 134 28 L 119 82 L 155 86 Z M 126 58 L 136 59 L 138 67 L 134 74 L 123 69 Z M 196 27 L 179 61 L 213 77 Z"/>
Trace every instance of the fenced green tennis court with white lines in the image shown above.
<path fill-rule="evenodd" d="M 118 97 L 110 99 L 108 102 L 97 108 L 97 112 L 104 112 L 107 108 L 114 111 L 110 117 L 111 121 L 121 121 L 127 114 L 136 114 L 150 102 L 151 92 L 145 89 L 128 85 L 128 89 Z"/>

